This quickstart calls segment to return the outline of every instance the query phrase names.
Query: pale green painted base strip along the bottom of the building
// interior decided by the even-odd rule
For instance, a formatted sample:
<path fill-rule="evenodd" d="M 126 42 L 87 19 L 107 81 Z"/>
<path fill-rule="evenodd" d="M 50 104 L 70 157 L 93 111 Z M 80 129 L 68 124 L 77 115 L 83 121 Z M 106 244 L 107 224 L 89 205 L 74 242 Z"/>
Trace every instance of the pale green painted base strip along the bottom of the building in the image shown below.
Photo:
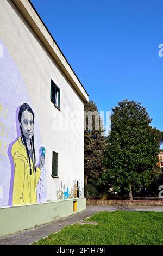
<path fill-rule="evenodd" d="M 73 211 L 74 201 L 77 201 L 76 211 Z M 85 211 L 85 209 L 85 198 L 1 208 L 0 237 L 59 220 L 60 218 Z"/>

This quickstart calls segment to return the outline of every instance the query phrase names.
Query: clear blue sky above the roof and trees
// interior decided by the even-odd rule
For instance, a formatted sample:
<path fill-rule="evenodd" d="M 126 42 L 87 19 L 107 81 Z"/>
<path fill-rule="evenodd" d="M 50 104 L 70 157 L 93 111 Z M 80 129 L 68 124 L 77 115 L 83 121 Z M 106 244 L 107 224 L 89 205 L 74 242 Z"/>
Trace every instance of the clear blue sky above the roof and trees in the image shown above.
<path fill-rule="evenodd" d="M 32 0 L 99 111 L 128 99 L 163 131 L 163 1 Z"/>

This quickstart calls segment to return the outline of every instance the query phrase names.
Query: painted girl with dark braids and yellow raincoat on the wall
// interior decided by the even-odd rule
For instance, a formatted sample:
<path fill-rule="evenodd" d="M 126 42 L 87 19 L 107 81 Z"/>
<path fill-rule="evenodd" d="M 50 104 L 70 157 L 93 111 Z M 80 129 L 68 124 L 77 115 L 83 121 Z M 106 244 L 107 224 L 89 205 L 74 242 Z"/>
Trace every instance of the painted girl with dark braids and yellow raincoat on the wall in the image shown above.
<path fill-rule="evenodd" d="M 18 121 L 21 136 L 11 149 L 15 168 L 12 205 L 35 204 L 37 203 L 36 187 L 45 164 L 45 154 L 41 154 L 39 167 L 36 167 L 34 112 L 27 103 L 23 103 L 20 107 Z"/>

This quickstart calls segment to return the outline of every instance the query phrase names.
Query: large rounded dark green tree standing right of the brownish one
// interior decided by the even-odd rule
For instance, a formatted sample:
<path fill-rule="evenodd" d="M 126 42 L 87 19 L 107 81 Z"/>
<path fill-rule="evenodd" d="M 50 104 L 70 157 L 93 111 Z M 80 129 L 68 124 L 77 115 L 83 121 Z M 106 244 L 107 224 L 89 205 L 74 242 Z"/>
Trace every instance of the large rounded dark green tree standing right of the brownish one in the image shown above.
<path fill-rule="evenodd" d="M 161 142 L 161 133 L 149 124 L 146 108 L 141 103 L 124 100 L 112 109 L 111 133 L 106 139 L 103 174 L 105 184 L 112 184 L 116 191 L 129 192 L 133 188 L 148 186 Z"/>

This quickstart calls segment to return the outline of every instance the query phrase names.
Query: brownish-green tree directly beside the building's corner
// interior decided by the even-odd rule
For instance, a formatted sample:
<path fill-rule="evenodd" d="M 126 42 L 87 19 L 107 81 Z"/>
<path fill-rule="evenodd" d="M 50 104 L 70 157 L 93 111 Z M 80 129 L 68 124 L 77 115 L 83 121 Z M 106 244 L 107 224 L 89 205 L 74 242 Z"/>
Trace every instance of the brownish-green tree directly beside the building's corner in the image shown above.
<path fill-rule="evenodd" d="M 98 108 L 93 101 L 84 106 L 85 131 L 84 131 L 84 180 L 97 179 L 103 172 L 103 155 L 105 150 L 105 137 L 103 121 Z M 87 114 L 90 114 L 90 118 Z"/>

